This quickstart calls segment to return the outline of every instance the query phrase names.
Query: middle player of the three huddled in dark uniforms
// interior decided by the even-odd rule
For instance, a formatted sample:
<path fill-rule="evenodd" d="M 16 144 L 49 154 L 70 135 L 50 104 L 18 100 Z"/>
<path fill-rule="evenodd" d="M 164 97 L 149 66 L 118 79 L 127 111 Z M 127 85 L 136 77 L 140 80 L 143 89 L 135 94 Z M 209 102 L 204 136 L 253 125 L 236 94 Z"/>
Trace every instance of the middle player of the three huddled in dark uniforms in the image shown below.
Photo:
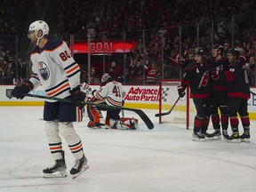
<path fill-rule="evenodd" d="M 212 58 L 207 60 L 211 64 L 210 74 L 212 74 L 212 97 L 211 97 L 211 115 L 212 126 L 215 132 L 212 137 L 220 139 L 220 122 L 222 134 L 225 139 L 228 138 L 228 86 L 225 79 L 219 78 L 220 71 L 228 70 L 228 59 L 223 57 L 224 47 L 216 44 L 212 47 Z M 220 108 L 220 115 L 218 109 Z"/>

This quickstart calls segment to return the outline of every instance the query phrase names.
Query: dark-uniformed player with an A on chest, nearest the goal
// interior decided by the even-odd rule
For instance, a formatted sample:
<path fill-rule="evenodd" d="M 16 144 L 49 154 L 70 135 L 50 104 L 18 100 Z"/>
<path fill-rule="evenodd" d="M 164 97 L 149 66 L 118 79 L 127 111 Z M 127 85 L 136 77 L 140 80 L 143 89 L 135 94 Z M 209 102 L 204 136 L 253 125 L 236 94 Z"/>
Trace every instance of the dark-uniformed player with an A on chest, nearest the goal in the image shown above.
<path fill-rule="evenodd" d="M 209 98 L 211 85 L 209 84 L 209 64 L 204 62 L 204 50 L 195 49 L 195 61 L 185 69 L 183 81 L 178 86 L 180 97 L 184 97 L 185 89 L 190 87 L 190 97 L 196 107 L 193 140 L 204 140 L 208 136 L 207 128 L 210 119 Z"/>

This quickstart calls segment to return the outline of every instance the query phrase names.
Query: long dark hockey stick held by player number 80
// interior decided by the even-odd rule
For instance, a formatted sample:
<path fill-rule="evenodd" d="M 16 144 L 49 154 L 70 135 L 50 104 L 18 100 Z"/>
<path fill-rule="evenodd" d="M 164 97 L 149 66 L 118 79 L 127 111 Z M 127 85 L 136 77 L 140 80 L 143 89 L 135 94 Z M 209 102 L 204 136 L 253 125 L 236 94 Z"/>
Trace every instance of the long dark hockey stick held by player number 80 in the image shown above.
<path fill-rule="evenodd" d="M 47 96 L 43 96 L 43 95 L 24 94 L 24 96 L 34 97 L 34 98 L 39 98 L 39 99 L 44 99 L 44 100 L 57 100 L 57 101 L 62 101 L 62 102 L 75 103 L 74 100 L 60 99 L 60 98 L 55 98 L 55 97 L 47 97 Z M 140 118 L 147 125 L 149 130 L 154 128 L 154 124 L 151 122 L 151 120 L 148 118 L 148 116 L 139 108 L 115 107 L 115 106 L 108 106 L 105 104 L 95 104 L 93 102 L 85 102 L 85 101 L 81 101 L 81 104 L 92 105 L 92 106 L 99 107 L 99 108 L 120 108 L 121 110 L 122 109 L 130 110 L 130 111 L 133 111 L 134 113 L 136 113 L 138 116 L 140 116 Z"/>

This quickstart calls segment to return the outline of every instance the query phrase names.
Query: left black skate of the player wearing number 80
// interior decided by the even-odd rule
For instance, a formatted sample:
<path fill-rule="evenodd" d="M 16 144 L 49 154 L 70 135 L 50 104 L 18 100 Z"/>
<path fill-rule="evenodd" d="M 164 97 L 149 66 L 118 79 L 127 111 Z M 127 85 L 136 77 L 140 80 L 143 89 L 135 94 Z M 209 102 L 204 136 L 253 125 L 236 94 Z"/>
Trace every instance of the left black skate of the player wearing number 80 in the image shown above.
<path fill-rule="evenodd" d="M 47 167 L 43 170 L 44 178 L 63 178 L 67 177 L 67 166 L 64 159 L 64 151 L 62 152 L 61 159 L 57 159 L 51 167 Z"/>

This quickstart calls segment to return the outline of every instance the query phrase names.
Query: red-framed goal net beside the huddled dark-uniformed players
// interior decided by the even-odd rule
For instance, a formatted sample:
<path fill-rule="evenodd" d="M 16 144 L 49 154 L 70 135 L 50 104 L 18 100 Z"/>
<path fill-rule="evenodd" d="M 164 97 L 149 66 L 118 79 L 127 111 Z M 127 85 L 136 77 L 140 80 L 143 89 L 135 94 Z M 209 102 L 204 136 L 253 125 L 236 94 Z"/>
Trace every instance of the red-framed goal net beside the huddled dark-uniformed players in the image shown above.
<path fill-rule="evenodd" d="M 177 87 L 181 84 L 181 80 L 161 80 L 159 84 L 159 124 L 178 123 L 182 119 L 186 124 L 186 129 L 189 127 L 189 87 L 186 89 L 186 95 L 180 98 L 171 114 L 161 116 L 162 113 L 169 111 L 172 105 L 179 98 Z M 172 120 L 171 120 L 172 117 Z"/>

